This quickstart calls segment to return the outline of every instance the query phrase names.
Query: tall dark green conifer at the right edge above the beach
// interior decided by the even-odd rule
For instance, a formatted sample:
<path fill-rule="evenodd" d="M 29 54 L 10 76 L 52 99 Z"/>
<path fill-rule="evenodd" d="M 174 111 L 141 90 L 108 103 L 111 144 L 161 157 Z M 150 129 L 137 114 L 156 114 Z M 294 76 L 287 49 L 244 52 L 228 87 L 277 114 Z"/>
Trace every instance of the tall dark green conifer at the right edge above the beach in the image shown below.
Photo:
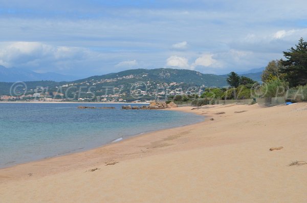
<path fill-rule="evenodd" d="M 290 86 L 307 84 L 307 42 L 300 38 L 295 48 L 283 52 L 287 60 L 281 60 L 281 73 L 286 74 Z"/>

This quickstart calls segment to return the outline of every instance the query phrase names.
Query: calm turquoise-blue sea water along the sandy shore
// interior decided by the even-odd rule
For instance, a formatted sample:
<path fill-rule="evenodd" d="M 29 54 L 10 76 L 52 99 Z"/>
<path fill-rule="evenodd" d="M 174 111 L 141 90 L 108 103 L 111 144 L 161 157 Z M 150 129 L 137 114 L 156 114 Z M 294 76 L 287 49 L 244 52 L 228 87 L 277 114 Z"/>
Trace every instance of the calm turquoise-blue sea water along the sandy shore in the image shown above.
<path fill-rule="evenodd" d="M 122 110 L 121 104 L 0 103 L 0 168 L 99 147 L 152 130 L 203 121 L 179 111 Z"/>

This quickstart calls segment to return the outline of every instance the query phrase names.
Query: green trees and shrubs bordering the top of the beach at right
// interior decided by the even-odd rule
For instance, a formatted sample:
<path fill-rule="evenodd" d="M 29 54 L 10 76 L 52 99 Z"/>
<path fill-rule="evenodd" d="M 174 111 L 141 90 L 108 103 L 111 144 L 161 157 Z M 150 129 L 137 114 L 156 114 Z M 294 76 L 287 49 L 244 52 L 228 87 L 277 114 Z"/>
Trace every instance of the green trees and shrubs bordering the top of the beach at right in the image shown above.
<path fill-rule="evenodd" d="M 192 105 L 214 104 L 216 100 L 241 100 L 285 97 L 287 101 L 307 101 L 307 42 L 299 39 L 295 48 L 283 52 L 286 59 L 272 60 L 262 72 L 261 84 L 251 78 L 231 72 L 227 88 L 205 88 L 200 98 L 185 97 Z M 183 101 L 174 97 L 174 101 Z"/>

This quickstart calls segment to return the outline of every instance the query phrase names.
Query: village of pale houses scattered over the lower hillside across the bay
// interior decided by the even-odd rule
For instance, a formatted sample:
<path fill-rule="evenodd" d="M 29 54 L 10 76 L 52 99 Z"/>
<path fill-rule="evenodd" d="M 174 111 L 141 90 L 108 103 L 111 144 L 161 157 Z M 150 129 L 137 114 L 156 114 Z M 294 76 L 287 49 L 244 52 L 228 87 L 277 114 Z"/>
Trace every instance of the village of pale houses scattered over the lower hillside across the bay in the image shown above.
<path fill-rule="evenodd" d="M 167 96 L 174 95 L 201 95 L 203 86 L 189 85 L 184 82 L 155 82 L 144 80 L 146 74 L 142 76 L 128 75 L 111 79 L 100 79 L 83 81 L 79 83 L 65 83 L 55 87 L 38 87 L 31 89 L 20 89 L 19 96 L 2 95 L 2 101 L 95 101 L 95 102 L 148 102 L 151 99 L 165 100 Z M 114 83 L 121 80 L 140 79 L 136 83 L 120 84 L 111 86 L 108 83 Z M 130 87 L 129 87 L 130 86 Z M 97 87 L 101 87 L 98 89 Z M 68 93 L 74 89 L 74 97 L 68 96 Z M 81 89 L 81 90 L 80 90 Z M 22 94 L 25 92 L 25 94 Z"/>

